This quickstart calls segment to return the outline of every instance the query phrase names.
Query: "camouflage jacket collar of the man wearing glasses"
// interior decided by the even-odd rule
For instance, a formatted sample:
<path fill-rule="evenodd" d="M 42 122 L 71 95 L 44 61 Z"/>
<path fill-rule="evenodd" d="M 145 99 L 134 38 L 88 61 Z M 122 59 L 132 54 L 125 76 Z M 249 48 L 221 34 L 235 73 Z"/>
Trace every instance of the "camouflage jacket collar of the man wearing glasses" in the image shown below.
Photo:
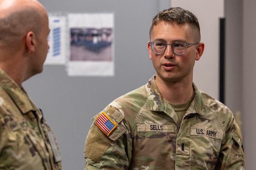
<path fill-rule="evenodd" d="M 195 98 L 192 101 L 190 107 L 188 108 L 188 111 L 190 113 L 199 113 L 201 115 L 205 115 L 206 106 L 204 104 L 204 101 L 202 100 L 201 92 L 195 86 L 195 83 L 193 83 L 193 87 L 195 90 Z M 163 96 L 161 95 L 159 89 L 156 86 L 155 75 L 153 75 L 146 84 L 146 91 L 150 109 L 152 111 L 162 111 L 166 113 L 168 102 L 164 100 Z"/>

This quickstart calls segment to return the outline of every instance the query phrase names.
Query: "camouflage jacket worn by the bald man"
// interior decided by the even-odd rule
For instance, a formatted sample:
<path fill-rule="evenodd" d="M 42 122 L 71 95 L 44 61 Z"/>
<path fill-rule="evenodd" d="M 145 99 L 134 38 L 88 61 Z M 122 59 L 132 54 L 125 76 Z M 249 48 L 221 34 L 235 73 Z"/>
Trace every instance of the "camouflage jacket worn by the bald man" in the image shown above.
<path fill-rule="evenodd" d="M 59 170 L 58 154 L 55 137 L 42 112 L 24 89 L 0 69 L 0 169 Z"/>

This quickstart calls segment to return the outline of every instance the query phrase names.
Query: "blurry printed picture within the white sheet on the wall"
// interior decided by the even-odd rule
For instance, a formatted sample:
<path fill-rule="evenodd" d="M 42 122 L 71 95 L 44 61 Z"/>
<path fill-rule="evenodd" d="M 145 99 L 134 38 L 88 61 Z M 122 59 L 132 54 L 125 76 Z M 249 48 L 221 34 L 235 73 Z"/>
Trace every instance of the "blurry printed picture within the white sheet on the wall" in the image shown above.
<path fill-rule="evenodd" d="M 111 61 L 112 28 L 70 28 L 71 61 Z"/>

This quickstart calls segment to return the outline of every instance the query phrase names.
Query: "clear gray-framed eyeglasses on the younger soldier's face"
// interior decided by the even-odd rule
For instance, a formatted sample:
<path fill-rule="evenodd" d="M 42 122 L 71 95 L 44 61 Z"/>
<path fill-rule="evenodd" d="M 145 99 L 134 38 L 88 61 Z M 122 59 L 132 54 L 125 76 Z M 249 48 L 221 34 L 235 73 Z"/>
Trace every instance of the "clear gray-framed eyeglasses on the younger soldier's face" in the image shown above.
<path fill-rule="evenodd" d="M 185 43 L 185 42 L 177 41 L 177 42 L 174 42 L 173 44 L 166 44 L 162 41 L 149 41 L 149 44 L 151 46 L 152 51 L 156 54 L 164 53 L 164 51 L 167 48 L 167 45 L 170 45 L 170 46 L 172 46 L 173 52 L 175 54 L 181 55 L 181 54 L 186 53 L 188 45 L 195 45 L 198 43 L 197 42 Z"/>

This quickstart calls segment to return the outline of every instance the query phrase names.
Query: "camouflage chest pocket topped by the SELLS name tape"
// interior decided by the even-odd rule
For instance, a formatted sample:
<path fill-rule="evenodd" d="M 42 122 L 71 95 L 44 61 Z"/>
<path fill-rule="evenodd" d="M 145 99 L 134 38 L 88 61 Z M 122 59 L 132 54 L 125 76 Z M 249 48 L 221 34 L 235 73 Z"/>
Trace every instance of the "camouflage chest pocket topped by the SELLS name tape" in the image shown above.
<path fill-rule="evenodd" d="M 174 128 L 174 125 L 138 124 L 133 137 L 132 164 L 174 169 L 177 131 Z"/>

